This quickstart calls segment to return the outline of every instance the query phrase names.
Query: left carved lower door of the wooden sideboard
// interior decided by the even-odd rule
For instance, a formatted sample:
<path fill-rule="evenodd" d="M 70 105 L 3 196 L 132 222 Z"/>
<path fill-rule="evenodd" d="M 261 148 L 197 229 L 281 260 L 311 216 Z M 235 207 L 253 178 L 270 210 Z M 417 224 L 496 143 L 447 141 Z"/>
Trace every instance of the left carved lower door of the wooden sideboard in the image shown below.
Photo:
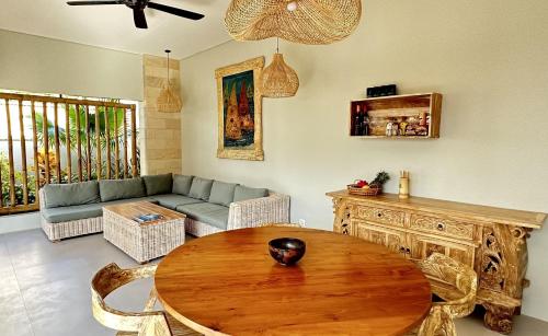
<path fill-rule="evenodd" d="M 372 225 L 364 221 L 355 221 L 356 236 L 379 245 L 387 246 L 390 251 L 407 255 L 406 232 L 385 227 Z"/>

